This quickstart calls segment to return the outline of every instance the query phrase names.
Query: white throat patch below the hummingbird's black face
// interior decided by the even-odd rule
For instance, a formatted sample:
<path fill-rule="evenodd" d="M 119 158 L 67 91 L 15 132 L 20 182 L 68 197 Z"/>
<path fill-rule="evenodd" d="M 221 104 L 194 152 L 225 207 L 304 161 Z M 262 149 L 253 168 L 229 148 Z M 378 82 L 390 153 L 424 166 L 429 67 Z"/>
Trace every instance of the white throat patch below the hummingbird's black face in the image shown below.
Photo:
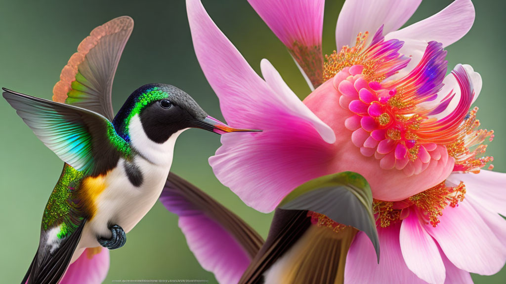
<path fill-rule="evenodd" d="M 160 166 L 170 166 L 172 164 L 176 139 L 186 129 L 188 128 L 179 130 L 172 134 L 164 143 L 159 144 L 149 139 L 146 135 L 138 114 L 132 117 L 129 125 L 130 140 L 135 150 L 151 163 Z"/>

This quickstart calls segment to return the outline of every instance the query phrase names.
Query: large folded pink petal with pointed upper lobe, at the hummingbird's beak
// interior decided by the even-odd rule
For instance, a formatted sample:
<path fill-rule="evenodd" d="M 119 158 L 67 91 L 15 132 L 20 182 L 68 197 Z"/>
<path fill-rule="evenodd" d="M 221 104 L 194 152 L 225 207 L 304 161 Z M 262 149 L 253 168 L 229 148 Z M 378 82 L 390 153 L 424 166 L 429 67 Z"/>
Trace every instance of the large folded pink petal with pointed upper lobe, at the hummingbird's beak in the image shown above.
<path fill-rule="evenodd" d="M 195 53 L 220 99 L 225 119 L 232 126 L 263 130 L 223 135 L 223 146 L 209 163 L 218 179 L 246 204 L 272 211 L 294 187 L 322 175 L 330 157 L 325 149 L 335 135 L 283 86 L 268 61 L 261 64 L 267 82 L 262 80 L 200 1 L 188 0 L 187 9 Z"/>

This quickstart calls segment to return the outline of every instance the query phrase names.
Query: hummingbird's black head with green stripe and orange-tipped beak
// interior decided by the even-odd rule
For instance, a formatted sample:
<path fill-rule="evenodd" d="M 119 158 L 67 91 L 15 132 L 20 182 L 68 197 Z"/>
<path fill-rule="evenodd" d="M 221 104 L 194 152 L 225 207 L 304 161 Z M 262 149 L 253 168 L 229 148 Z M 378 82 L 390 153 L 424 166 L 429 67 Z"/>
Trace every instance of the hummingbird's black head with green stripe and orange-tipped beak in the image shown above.
<path fill-rule="evenodd" d="M 120 136 L 131 140 L 142 132 L 149 140 L 163 144 L 188 128 L 201 128 L 218 134 L 255 131 L 232 128 L 214 119 L 183 90 L 167 84 L 147 84 L 135 90 L 114 118 Z"/>

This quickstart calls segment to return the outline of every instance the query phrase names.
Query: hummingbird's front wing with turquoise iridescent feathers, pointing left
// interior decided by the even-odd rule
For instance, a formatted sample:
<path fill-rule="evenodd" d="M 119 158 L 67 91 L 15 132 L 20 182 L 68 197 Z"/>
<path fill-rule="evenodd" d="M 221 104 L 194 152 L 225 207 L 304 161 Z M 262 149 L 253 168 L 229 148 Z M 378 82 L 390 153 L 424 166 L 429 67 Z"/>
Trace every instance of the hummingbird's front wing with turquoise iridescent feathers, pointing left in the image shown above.
<path fill-rule="evenodd" d="M 65 163 L 88 175 L 116 166 L 119 157 L 130 155 L 130 146 L 102 115 L 4 90 L 4 98 L 18 115 Z"/>

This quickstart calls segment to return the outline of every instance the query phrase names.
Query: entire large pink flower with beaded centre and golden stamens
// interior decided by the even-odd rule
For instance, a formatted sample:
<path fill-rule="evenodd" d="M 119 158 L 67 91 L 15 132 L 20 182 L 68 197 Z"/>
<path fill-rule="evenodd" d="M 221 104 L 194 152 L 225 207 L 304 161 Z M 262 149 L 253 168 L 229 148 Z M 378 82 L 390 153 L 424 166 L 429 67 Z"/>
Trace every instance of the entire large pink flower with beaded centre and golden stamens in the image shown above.
<path fill-rule="evenodd" d="M 382 254 L 378 265 L 359 233 L 347 282 L 470 282 L 469 272 L 497 272 L 506 260 L 506 226 L 497 214 L 506 213 L 505 177 L 476 174 L 492 160 L 479 156 L 493 132 L 477 129 L 476 109 L 470 111 L 481 77 L 469 65 L 445 76 L 443 48 L 471 28 L 471 1 L 456 0 L 397 30 L 420 1 L 349 0 L 336 27 L 339 52 L 325 63 L 323 1 L 249 2 L 317 88 L 301 102 L 265 59 L 262 79 L 200 1 L 187 0 L 195 53 L 225 119 L 264 130 L 222 136 L 209 158 L 219 180 L 247 205 L 270 212 L 308 180 L 363 175 L 375 198 Z"/>

